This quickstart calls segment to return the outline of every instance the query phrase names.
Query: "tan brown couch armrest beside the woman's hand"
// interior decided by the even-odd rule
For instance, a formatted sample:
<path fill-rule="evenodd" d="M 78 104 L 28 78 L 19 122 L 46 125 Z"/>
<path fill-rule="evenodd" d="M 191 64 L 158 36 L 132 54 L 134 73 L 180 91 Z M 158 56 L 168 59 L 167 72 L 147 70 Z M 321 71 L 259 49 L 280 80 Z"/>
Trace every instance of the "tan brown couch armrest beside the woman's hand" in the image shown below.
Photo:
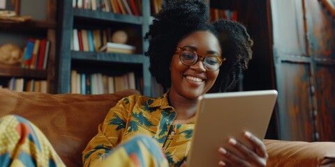
<path fill-rule="evenodd" d="M 335 142 L 264 140 L 267 166 L 335 166 Z"/>

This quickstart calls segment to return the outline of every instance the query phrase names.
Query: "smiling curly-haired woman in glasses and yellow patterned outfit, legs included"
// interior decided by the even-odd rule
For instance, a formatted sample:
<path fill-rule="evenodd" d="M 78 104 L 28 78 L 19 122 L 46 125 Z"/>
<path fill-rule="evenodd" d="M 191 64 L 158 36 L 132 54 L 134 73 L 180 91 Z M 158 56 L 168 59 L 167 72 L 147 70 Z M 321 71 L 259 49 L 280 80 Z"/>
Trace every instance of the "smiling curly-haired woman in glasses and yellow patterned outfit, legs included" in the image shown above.
<path fill-rule="evenodd" d="M 163 4 L 145 39 L 151 74 L 168 92 L 157 99 L 132 95 L 120 100 L 83 151 L 84 166 L 186 166 L 197 98 L 234 88 L 252 54 L 253 41 L 244 26 L 224 20 L 208 23 L 208 13 L 202 0 Z M 21 136 L 0 140 L 1 150 L 10 152 L 0 156 L 1 166 L 10 161 L 13 166 L 64 166 L 37 127 L 9 116 L 0 120 L 0 138 L 13 134 L 10 127 Z M 217 154 L 228 159 L 218 160 L 219 166 L 265 166 L 265 145 L 253 134 L 245 136 L 255 150 L 234 138 L 230 144 L 247 160 L 218 148 Z"/>

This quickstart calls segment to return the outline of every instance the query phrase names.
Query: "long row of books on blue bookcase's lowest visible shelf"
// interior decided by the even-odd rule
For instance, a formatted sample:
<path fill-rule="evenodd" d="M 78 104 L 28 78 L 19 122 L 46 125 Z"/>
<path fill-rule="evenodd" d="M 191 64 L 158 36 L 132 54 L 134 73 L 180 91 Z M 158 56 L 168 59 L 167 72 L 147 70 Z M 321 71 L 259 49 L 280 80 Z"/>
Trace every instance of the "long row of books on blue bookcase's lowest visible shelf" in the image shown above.
<path fill-rule="evenodd" d="M 134 72 L 121 76 L 109 76 L 101 73 L 86 74 L 71 70 L 71 93 L 97 95 L 114 93 L 124 89 L 142 90 L 142 78 Z"/>

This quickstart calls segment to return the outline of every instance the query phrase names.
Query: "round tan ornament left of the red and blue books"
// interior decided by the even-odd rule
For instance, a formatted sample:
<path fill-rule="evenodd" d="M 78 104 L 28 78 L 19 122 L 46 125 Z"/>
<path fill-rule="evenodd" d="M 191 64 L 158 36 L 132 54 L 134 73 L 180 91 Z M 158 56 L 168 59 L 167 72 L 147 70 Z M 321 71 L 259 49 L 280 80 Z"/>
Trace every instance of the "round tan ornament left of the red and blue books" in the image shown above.
<path fill-rule="evenodd" d="M 0 47 L 0 62 L 15 64 L 22 61 L 22 49 L 13 44 L 5 44 Z"/>

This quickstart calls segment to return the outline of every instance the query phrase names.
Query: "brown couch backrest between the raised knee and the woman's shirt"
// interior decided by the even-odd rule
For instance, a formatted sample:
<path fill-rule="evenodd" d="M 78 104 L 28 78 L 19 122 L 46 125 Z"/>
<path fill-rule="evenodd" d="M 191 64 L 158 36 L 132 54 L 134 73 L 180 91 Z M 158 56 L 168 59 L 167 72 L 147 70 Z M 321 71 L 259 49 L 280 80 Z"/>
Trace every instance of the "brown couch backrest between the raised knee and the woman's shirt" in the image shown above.
<path fill-rule="evenodd" d="M 15 114 L 34 123 L 47 136 L 67 166 L 82 166 L 82 150 L 98 133 L 109 109 L 122 97 L 139 94 L 79 95 L 18 93 L 0 88 L 0 117 Z"/>

